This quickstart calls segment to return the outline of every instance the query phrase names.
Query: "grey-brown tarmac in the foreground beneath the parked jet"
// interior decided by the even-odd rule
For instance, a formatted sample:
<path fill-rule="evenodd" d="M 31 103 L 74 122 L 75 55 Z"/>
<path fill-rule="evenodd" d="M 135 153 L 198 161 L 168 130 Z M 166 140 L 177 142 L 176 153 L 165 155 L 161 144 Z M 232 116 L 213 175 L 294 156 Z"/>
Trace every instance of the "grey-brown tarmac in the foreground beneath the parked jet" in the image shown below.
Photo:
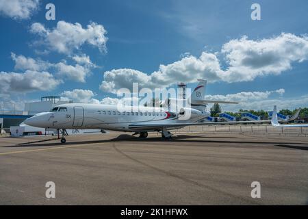
<path fill-rule="evenodd" d="M 0 138 L 0 205 L 307 205 L 308 138 L 127 133 Z M 46 140 L 46 141 L 44 141 Z M 55 198 L 45 184 L 55 183 Z M 253 198 L 251 183 L 260 183 Z"/>

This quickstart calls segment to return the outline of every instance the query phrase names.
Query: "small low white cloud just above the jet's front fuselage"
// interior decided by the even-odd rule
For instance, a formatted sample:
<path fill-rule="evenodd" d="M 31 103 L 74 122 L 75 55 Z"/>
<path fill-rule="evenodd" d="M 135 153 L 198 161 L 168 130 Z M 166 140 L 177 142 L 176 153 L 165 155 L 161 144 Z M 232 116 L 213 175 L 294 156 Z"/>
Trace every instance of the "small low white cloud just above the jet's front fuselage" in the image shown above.
<path fill-rule="evenodd" d="M 92 90 L 82 90 L 82 89 L 74 89 L 74 90 L 66 90 L 62 92 L 60 95 L 74 101 L 77 103 L 89 103 L 93 96 L 95 96 Z"/>

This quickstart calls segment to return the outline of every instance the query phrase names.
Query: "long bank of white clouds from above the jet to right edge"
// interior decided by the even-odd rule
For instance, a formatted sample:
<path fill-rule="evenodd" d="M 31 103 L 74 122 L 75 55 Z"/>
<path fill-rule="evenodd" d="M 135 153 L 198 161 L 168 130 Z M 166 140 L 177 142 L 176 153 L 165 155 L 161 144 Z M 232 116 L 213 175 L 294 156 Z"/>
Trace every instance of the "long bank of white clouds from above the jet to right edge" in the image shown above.
<path fill-rule="evenodd" d="M 281 34 L 263 40 L 248 40 L 246 36 L 230 40 L 222 46 L 220 54 L 226 60 L 226 69 L 220 66 L 217 53 L 203 52 L 200 57 L 182 56 L 181 60 L 168 65 L 160 65 L 151 74 L 138 70 L 120 68 L 106 71 L 100 89 L 113 92 L 120 88 L 131 89 L 133 82 L 141 87 L 164 88 L 178 81 L 209 82 L 253 81 L 264 75 L 279 75 L 292 68 L 292 62 L 303 62 L 308 58 L 307 36 Z"/>

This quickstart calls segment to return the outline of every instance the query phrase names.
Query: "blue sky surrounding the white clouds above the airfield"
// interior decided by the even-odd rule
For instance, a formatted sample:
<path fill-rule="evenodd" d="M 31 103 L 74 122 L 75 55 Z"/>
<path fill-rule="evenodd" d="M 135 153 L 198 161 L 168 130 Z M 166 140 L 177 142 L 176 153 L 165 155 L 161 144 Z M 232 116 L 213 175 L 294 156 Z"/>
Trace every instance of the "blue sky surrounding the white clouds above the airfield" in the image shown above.
<path fill-rule="evenodd" d="M 46 10 L 44 8 L 47 3 L 55 5 L 55 21 L 45 19 Z M 261 21 L 251 20 L 252 3 L 261 5 Z M 5 5 L 0 7 L 5 7 Z M 102 81 L 105 80 L 104 73 L 113 69 L 129 68 L 151 75 L 159 70 L 159 65 L 167 66 L 181 60 L 184 53 L 198 58 L 203 52 L 207 52 L 217 53 L 221 69 L 227 70 L 230 64 L 227 56 L 222 53 L 222 47 L 231 40 L 240 40 L 242 36 L 247 36 L 248 40 L 258 42 L 258 40 L 279 37 L 281 33 L 292 34 L 300 40 L 302 37 L 305 38 L 305 34 L 308 33 L 308 3 L 305 0 L 38 1 L 27 18 L 16 17 L 14 14 L 3 12 L 3 10 L 0 10 L 1 72 L 22 74 L 27 70 L 25 68 L 16 69 L 16 62 L 12 59 L 11 53 L 16 54 L 17 57 L 23 55 L 25 58 L 42 62 L 53 64 L 63 62 L 72 66 L 76 64 L 72 60 L 73 55 L 86 55 L 95 67 L 89 67 L 90 72 L 84 82 L 62 77 L 63 75 L 61 76 L 61 73 L 58 72 L 60 70 L 55 70 L 53 67 L 45 69 L 55 79 L 61 79 L 62 83 L 52 86 L 50 89 L 38 88 L 29 92 L 28 90 L 23 90 L 23 92 L 0 90 L 2 101 L 35 100 L 40 96 L 64 94 L 65 91 L 73 91 L 74 89 L 92 90 L 94 95 L 89 94 L 90 96 L 85 97 L 86 100 L 101 101 L 107 96 L 116 98 L 111 90 L 100 89 Z M 60 53 L 50 49 L 46 43 L 42 42 L 42 36 L 38 32 L 36 34 L 31 32 L 31 25 L 34 23 L 40 23 L 44 25 L 45 29 L 52 31 L 59 21 L 71 24 L 79 23 L 84 29 L 91 22 L 101 25 L 107 31 L 105 34 L 107 38 L 106 51 L 100 51 L 97 45 L 83 43 L 78 49 L 72 49 L 70 53 Z M 301 49 L 303 48 L 299 48 L 299 50 Z M 42 53 L 45 50 L 47 53 Z M 264 96 L 264 99 L 268 101 L 266 107 L 270 107 L 272 103 L 276 102 L 283 103 L 285 99 L 288 102 L 283 107 L 298 107 L 298 103 L 302 104 L 302 107 L 307 107 L 308 55 L 306 54 L 307 50 L 303 50 L 300 51 L 300 57 L 293 59 L 292 56 L 290 68 L 283 68 L 279 73 L 272 73 L 272 70 L 268 70 L 266 74 L 258 73 L 254 79 L 246 81 L 209 79 L 211 83 L 207 86 L 207 94 L 211 96 L 208 97 L 225 99 L 227 94 L 252 92 L 249 95 L 254 95 L 253 92 L 270 92 Z M 295 53 L 295 55 L 298 54 L 298 52 Z M 174 77 L 175 83 L 179 82 L 177 79 L 182 78 L 177 77 L 177 73 L 172 74 L 174 75 L 169 76 Z M 204 75 L 206 76 L 207 73 Z M 188 86 L 196 86 L 194 79 L 197 79 L 198 75 L 192 72 L 189 77 L 191 79 L 188 81 L 190 82 Z M 123 77 L 123 80 L 127 80 L 127 78 Z M 112 82 L 117 81 L 114 79 Z M 174 85 L 168 83 L 167 86 Z M 283 89 L 284 92 L 275 92 L 279 89 Z M 220 96 L 216 96 L 216 94 L 220 94 Z M 79 101 L 72 93 L 66 92 L 66 96 Z M 233 97 L 231 96 L 231 98 Z M 304 98 L 306 102 L 300 101 L 301 98 Z M 241 105 L 241 107 L 262 106 L 262 104 L 257 104 L 261 101 L 255 96 L 245 100 L 256 103 L 255 105 Z M 294 105 L 290 105 L 293 103 Z"/>

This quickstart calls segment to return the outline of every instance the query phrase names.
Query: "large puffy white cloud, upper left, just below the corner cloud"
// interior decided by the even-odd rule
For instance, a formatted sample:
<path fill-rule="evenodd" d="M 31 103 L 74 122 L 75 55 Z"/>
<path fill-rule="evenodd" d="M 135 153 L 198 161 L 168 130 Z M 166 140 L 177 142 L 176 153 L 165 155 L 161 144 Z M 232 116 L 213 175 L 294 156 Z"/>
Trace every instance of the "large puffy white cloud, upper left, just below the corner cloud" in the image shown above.
<path fill-rule="evenodd" d="M 105 52 L 108 38 L 107 31 L 103 25 L 90 23 L 83 28 L 79 23 L 67 23 L 58 21 L 57 27 L 47 29 L 41 23 L 34 23 L 30 28 L 31 33 L 38 34 L 41 44 L 46 44 L 52 51 L 69 54 L 79 49 L 83 44 L 97 47 L 99 51 Z"/>

